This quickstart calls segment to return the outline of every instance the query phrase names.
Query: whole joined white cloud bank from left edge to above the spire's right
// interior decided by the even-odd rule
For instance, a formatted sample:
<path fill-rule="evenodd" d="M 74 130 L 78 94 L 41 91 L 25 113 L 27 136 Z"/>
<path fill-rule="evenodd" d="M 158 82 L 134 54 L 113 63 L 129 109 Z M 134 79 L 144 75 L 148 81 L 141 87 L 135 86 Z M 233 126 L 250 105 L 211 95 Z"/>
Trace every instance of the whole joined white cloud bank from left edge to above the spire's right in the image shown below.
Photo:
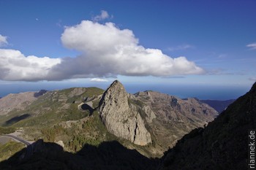
<path fill-rule="evenodd" d="M 0 50 L 1 80 L 67 80 L 75 78 L 154 76 L 170 77 L 204 72 L 184 56 L 171 58 L 161 50 L 145 48 L 129 29 L 114 23 L 83 20 L 66 27 L 64 47 L 78 50 L 76 58 L 38 58 L 18 50 Z M 94 79 L 97 80 L 97 79 Z"/>

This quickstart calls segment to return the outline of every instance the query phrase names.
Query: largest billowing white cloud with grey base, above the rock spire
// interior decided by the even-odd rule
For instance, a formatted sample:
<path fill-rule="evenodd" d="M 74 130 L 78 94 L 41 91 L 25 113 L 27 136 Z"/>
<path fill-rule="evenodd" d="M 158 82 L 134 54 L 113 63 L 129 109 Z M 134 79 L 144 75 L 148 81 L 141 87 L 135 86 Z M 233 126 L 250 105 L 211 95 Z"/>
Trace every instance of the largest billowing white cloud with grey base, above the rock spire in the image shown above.
<path fill-rule="evenodd" d="M 184 56 L 171 58 L 158 49 L 138 45 L 129 29 L 114 23 L 83 20 L 68 27 L 61 36 L 63 45 L 82 52 L 77 58 L 66 58 L 56 66 L 58 77 L 173 76 L 202 74 L 204 71 Z M 54 76 L 54 74 L 53 74 Z"/>

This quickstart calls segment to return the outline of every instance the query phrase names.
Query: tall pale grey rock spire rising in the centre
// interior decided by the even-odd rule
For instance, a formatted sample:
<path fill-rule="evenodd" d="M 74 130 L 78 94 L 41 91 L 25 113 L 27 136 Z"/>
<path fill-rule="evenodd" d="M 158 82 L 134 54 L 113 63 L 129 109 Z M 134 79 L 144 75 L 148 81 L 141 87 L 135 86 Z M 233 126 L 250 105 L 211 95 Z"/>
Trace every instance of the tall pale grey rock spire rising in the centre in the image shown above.
<path fill-rule="evenodd" d="M 129 107 L 129 94 L 118 80 L 103 94 L 99 114 L 111 134 L 138 145 L 151 143 L 151 135 L 143 119 L 135 109 Z"/>

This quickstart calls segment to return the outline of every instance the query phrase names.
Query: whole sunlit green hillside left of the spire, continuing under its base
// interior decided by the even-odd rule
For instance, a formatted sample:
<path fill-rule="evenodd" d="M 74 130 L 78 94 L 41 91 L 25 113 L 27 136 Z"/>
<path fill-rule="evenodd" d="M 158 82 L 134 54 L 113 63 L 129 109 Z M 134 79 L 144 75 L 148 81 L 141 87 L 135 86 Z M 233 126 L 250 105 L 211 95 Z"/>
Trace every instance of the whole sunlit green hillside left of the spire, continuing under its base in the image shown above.
<path fill-rule="evenodd" d="M 48 91 L 26 109 L 14 110 L 7 117 L 3 117 L 0 120 L 0 125 L 12 117 L 28 114 L 29 117 L 18 120 L 18 122 L 14 122 L 8 125 L 8 128 L 3 129 L 10 131 L 22 127 L 24 139 L 34 141 L 43 139 L 45 142 L 62 141 L 64 150 L 73 153 L 80 151 L 86 144 L 98 147 L 102 142 L 118 141 L 130 149 L 138 150 L 147 157 L 156 156 L 148 152 L 148 150 L 154 150 L 154 142 L 142 147 L 125 139 L 118 139 L 113 134 L 108 133 L 100 120 L 97 109 L 92 115 L 89 110 L 78 109 L 78 105 L 86 98 L 96 98 L 103 92 L 104 90 L 99 88 L 69 88 Z M 137 100 L 129 100 L 129 104 L 137 106 L 138 109 L 144 105 L 143 102 Z M 95 99 L 93 107 L 97 108 L 98 105 L 99 99 Z M 140 110 L 140 112 L 142 111 Z"/>

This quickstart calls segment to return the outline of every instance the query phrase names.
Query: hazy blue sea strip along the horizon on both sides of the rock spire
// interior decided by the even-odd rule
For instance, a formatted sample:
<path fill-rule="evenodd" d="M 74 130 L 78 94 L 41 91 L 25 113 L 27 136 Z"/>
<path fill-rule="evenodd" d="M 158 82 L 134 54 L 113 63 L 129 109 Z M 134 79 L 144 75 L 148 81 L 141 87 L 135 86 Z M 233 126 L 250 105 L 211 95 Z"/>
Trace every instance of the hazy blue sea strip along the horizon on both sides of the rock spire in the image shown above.
<path fill-rule="evenodd" d="M 137 93 L 138 91 L 154 90 L 161 93 L 167 93 L 179 98 L 195 97 L 199 99 L 227 100 L 236 99 L 244 95 L 249 90 L 246 85 L 181 85 L 181 84 L 162 84 L 162 83 L 139 83 L 139 82 L 122 82 L 128 93 Z M 26 91 L 38 90 L 61 90 L 64 88 L 75 87 L 97 87 L 106 89 L 111 82 L 26 82 L 0 84 L 0 96 L 7 96 L 9 93 L 20 93 Z"/>

